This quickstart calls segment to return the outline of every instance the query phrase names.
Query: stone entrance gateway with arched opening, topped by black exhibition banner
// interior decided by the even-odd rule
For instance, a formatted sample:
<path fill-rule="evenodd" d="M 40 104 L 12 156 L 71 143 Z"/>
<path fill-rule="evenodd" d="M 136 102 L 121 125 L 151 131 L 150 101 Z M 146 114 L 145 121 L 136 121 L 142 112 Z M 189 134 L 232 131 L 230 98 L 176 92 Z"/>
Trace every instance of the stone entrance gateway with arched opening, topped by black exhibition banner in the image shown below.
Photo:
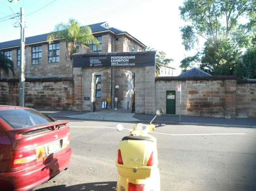
<path fill-rule="evenodd" d="M 119 107 L 131 107 L 131 102 L 135 102 L 136 113 L 155 114 L 155 54 L 155 51 L 72 54 L 73 74 L 78 78 L 74 83 L 81 86 L 81 92 L 77 93 L 83 98 L 81 110 L 93 111 L 95 102 L 101 108 L 107 98 L 112 100 L 107 107 L 114 109 L 115 96 L 119 95 Z M 115 85 L 121 89 L 116 90 Z M 126 104 L 129 100 L 126 98 L 133 93 L 133 101 Z"/>

